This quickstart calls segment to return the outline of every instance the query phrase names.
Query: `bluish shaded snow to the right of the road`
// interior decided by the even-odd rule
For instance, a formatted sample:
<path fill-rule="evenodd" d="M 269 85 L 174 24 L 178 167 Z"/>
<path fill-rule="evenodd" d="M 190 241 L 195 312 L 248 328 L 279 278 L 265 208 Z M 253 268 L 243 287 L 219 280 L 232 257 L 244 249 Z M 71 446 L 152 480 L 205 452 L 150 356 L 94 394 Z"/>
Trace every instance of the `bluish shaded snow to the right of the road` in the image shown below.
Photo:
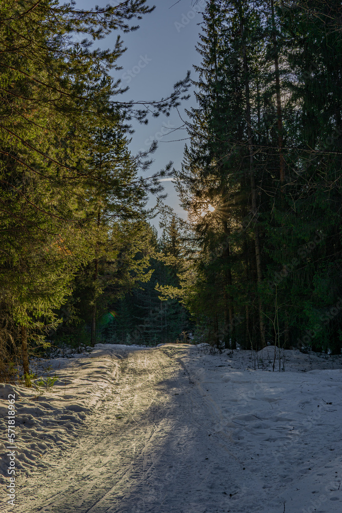
<path fill-rule="evenodd" d="M 212 411 L 211 433 L 227 438 L 241 464 L 231 510 L 279 513 L 284 504 L 291 513 L 340 512 L 341 358 L 289 350 L 285 372 L 276 371 L 277 358 L 273 372 L 274 346 L 257 355 L 183 350 L 190 379 Z"/>

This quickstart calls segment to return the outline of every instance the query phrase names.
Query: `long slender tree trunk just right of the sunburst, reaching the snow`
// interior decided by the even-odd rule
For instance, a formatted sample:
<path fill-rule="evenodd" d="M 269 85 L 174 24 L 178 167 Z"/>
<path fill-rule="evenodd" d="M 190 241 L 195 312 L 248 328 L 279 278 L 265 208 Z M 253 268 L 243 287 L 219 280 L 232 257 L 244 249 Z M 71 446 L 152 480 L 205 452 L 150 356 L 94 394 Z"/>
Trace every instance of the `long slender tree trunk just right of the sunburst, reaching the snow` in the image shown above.
<path fill-rule="evenodd" d="M 253 140 L 252 140 L 252 125 L 251 125 L 251 103 L 250 103 L 250 89 L 249 89 L 249 69 L 247 62 L 247 50 L 244 35 L 244 19 L 242 13 L 241 2 L 239 2 L 239 17 L 240 17 L 240 32 L 242 35 L 242 50 L 244 60 L 244 73 L 245 73 L 245 91 L 246 91 L 246 122 L 247 122 L 247 137 L 248 137 L 248 153 L 249 153 L 249 174 L 251 184 L 251 197 L 252 197 L 252 213 L 254 219 L 254 246 L 255 246 L 255 261 L 257 271 L 257 284 L 260 285 L 263 281 L 263 273 L 261 270 L 261 257 L 260 257 L 260 237 L 259 227 L 256 224 L 256 186 L 255 186 L 255 175 L 254 175 L 254 157 L 253 157 Z M 260 340 L 261 347 L 266 346 L 265 342 L 265 320 L 263 313 L 263 304 L 261 303 L 260 295 L 258 294 L 258 309 L 259 309 L 259 326 L 260 326 Z"/>

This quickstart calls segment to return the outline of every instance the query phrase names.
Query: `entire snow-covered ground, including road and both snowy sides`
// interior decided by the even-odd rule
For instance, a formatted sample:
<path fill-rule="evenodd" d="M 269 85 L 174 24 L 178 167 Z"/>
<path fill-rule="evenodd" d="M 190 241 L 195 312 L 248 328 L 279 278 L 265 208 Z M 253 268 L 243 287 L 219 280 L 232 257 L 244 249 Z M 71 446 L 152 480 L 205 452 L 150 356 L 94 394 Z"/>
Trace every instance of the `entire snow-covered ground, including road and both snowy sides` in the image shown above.
<path fill-rule="evenodd" d="M 340 513 L 342 360 L 97 344 L 16 394 L 18 513 Z M 42 391 L 43 392 L 43 391 Z"/>

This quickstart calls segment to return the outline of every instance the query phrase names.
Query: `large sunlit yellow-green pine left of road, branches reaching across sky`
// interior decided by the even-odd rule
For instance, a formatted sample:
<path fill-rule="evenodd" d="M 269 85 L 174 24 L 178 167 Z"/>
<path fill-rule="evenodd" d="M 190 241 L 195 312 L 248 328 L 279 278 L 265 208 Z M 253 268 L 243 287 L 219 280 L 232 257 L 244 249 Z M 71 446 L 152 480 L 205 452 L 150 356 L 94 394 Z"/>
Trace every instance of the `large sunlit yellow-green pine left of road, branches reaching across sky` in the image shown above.
<path fill-rule="evenodd" d="M 122 41 L 102 51 L 87 40 L 135 30 L 131 21 L 151 10 L 145 0 L 90 11 L 56 0 L 10 0 L 0 8 L 0 282 L 9 315 L 23 327 L 25 374 L 27 334 L 56 326 L 73 275 L 92 258 L 88 242 L 99 229 L 92 208 L 102 192 L 101 177 L 89 166 L 98 150 L 94 130 L 127 133 L 132 116 L 146 122 L 148 110 L 168 114 L 186 92 L 187 78 L 168 98 L 143 108 L 117 101 L 123 89 L 111 73 L 119 69 Z M 85 35 L 81 43 L 74 42 L 75 33 Z M 145 156 L 131 167 L 146 169 Z M 150 189 L 158 190 L 156 176 L 152 183 Z M 125 193 L 133 188 L 127 185 Z M 116 199 L 127 211 L 121 193 Z"/>

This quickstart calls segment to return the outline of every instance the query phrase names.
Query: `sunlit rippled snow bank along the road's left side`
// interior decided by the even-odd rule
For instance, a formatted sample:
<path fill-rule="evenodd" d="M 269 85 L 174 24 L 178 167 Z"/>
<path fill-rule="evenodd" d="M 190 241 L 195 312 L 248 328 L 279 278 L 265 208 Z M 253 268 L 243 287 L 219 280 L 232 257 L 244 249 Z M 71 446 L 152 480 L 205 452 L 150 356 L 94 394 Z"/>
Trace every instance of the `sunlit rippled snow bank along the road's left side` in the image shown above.
<path fill-rule="evenodd" d="M 115 380 L 120 355 L 126 346 L 96 344 L 89 354 L 77 358 L 57 358 L 41 361 L 37 374 L 51 366 L 45 376 L 58 376 L 48 390 L 20 385 L 0 384 L 0 480 L 7 476 L 8 468 L 8 394 L 15 394 L 15 439 L 17 449 L 15 465 L 30 475 L 40 465 L 42 455 L 53 446 L 67 449 L 70 436 L 86 416 L 93 411 Z"/>

